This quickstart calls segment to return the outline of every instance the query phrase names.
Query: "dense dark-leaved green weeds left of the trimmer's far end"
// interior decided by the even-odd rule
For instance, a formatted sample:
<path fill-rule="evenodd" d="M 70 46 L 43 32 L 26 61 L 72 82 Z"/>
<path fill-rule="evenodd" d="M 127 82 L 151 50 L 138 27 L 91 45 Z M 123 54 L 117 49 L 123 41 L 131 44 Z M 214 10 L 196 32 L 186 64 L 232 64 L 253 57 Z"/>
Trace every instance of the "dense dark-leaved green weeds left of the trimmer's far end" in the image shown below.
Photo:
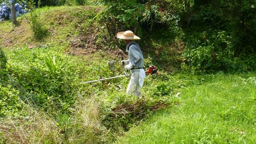
<path fill-rule="evenodd" d="M 22 87 L 21 99 L 31 102 L 49 114 L 70 113 L 76 98 L 76 75 L 74 66 L 63 55 L 44 50 L 17 51 L 17 58 L 11 58 L 8 70 L 18 87 Z M 26 64 L 19 66 L 19 59 L 26 57 Z"/>

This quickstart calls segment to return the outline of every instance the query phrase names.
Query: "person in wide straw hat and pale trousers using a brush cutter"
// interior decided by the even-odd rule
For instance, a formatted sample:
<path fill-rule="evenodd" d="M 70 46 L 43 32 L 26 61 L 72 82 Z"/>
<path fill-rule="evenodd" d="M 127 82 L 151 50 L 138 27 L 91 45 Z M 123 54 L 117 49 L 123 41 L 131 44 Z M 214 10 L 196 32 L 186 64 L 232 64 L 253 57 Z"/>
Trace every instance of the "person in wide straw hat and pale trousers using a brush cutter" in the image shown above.
<path fill-rule="evenodd" d="M 144 60 L 140 46 L 134 41 L 140 38 L 133 34 L 131 30 L 121 31 L 117 33 L 117 38 L 124 39 L 126 44 L 126 52 L 128 52 L 129 59 L 122 60 L 121 63 L 125 69 L 131 70 L 131 79 L 128 84 L 126 93 L 137 95 L 141 97 L 141 87 L 146 77 L 145 70 L 143 69 Z"/>

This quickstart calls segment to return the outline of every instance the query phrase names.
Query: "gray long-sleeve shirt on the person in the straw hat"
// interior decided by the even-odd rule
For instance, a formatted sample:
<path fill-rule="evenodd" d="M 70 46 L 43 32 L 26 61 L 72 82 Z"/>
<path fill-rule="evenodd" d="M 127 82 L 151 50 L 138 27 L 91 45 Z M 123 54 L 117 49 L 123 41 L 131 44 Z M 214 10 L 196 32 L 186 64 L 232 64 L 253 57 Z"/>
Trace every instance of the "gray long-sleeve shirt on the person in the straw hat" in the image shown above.
<path fill-rule="evenodd" d="M 130 42 L 126 46 L 126 50 L 129 47 L 128 55 L 129 55 L 129 62 L 133 66 L 133 68 L 143 68 L 144 60 L 143 60 L 143 54 L 140 49 L 140 46 L 135 42 Z"/>

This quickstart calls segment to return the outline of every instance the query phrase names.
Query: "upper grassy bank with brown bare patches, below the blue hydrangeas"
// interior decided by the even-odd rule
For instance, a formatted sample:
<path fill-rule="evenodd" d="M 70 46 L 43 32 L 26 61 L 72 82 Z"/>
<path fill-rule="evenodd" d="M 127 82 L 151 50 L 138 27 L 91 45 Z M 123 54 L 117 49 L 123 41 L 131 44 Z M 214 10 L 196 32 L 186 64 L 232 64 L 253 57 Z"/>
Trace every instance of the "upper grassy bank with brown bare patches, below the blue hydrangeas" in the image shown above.
<path fill-rule="evenodd" d="M 47 36 L 40 41 L 33 36 L 29 14 L 19 18 L 17 27 L 11 21 L 1 23 L 0 45 L 4 47 L 27 46 L 29 49 L 42 45 L 61 45 L 68 47 L 73 55 L 90 54 L 100 49 L 108 49 L 100 43 L 104 29 L 93 18 L 103 9 L 99 6 L 59 6 L 43 7 L 37 10 Z M 118 51 L 117 51 L 118 52 Z M 112 53 L 112 52 L 109 52 Z"/>

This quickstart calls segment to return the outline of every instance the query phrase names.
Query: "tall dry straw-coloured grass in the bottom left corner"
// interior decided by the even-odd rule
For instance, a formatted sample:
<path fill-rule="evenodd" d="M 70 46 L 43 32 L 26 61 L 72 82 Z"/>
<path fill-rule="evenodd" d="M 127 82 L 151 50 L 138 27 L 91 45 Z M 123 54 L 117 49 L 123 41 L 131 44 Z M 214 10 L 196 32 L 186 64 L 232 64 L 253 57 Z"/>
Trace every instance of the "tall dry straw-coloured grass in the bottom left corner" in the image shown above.
<path fill-rule="evenodd" d="M 108 131 L 100 123 L 99 105 L 79 97 L 75 114 L 57 118 L 26 104 L 26 117 L 7 117 L 0 123 L 0 139 L 6 143 L 105 143 Z M 1 143 L 1 141 L 0 141 Z"/>

